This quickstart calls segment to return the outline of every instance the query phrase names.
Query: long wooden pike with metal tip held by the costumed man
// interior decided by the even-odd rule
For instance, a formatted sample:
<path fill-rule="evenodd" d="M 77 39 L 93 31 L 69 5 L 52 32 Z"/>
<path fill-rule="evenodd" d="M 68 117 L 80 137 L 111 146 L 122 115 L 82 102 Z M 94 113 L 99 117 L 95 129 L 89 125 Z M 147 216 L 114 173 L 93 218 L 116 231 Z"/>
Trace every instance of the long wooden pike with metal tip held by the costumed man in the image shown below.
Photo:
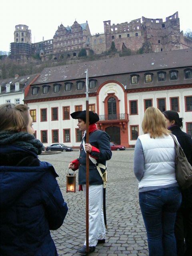
<path fill-rule="evenodd" d="M 86 73 L 86 143 L 89 143 L 89 78 Z M 86 152 L 86 251 L 89 252 L 89 153 Z"/>

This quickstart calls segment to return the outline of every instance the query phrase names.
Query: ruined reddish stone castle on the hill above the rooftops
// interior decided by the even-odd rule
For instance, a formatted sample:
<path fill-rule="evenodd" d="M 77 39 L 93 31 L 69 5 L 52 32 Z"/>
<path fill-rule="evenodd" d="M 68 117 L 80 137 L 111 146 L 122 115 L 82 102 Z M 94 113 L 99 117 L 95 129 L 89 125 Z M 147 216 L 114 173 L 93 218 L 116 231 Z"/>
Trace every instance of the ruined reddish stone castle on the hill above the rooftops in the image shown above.
<path fill-rule="evenodd" d="M 30 30 L 26 25 L 17 25 L 14 32 L 14 43 L 11 43 L 12 58 L 28 57 L 30 54 L 40 54 L 42 61 L 62 58 L 76 58 L 82 48 L 94 54 L 102 54 L 110 50 L 112 42 L 118 51 L 127 48 L 139 50 L 149 43 L 152 52 L 164 52 L 192 48 L 192 40 L 185 38 L 180 32 L 178 12 L 166 17 L 150 19 L 142 17 L 124 22 L 111 24 L 104 21 L 104 33 L 91 35 L 88 22 L 72 26 L 60 24 L 50 40 L 31 44 Z M 30 40 L 29 40 L 30 39 Z M 31 51 L 31 52 L 30 52 Z"/>

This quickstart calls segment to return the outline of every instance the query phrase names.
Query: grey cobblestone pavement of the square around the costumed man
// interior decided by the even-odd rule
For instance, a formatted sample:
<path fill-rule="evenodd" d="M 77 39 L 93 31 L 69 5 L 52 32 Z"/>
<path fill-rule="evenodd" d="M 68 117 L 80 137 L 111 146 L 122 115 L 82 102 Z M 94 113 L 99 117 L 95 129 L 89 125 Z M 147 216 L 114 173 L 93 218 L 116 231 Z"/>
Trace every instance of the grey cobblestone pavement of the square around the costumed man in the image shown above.
<path fill-rule="evenodd" d="M 84 244 L 86 236 L 86 201 L 82 191 L 78 191 L 78 171 L 77 192 L 66 193 L 68 163 L 78 155 L 78 151 L 73 151 L 40 156 L 40 160 L 50 162 L 55 167 L 69 208 L 61 228 L 51 232 L 60 256 L 78 256 L 77 249 Z M 134 150 L 113 151 L 111 160 L 107 162 L 106 243 L 96 246 L 91 256 L 148 255 L 146 230 L 138 203 L 138 182 L 133 173 L 133 155 Z"/>

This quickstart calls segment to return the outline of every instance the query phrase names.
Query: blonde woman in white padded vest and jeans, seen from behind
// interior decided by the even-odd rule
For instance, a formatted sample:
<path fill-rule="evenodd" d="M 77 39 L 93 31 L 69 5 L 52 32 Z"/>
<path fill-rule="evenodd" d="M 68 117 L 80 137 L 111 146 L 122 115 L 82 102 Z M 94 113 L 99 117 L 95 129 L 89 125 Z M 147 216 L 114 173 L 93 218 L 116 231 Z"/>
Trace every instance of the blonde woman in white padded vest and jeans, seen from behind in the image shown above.
<path fill-rule="evenodd" d="M 175 177 L 174 140 L 158 108 L 146 109 L 142 129 L 135 145 L 134 174 L 149 256 L 176 256 L 174 223 L 181 192 Z"/>

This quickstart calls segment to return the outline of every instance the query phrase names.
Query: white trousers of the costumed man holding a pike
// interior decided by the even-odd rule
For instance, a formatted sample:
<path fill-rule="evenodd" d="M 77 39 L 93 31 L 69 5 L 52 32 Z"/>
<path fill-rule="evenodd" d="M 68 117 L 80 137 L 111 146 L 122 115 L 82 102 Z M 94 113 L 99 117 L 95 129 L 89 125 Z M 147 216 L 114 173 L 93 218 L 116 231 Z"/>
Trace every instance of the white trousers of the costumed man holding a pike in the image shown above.
<path fill-rule="evenodd" d="M 86 185 L 82 185 L 86 196 Z M 98 239 L 105 239 L 105 224 L 102 210 L 103 185 L 89 186 L 89 246 L 96 246 Z M 86 241 L 84 243 L 86 245 Z"/>

